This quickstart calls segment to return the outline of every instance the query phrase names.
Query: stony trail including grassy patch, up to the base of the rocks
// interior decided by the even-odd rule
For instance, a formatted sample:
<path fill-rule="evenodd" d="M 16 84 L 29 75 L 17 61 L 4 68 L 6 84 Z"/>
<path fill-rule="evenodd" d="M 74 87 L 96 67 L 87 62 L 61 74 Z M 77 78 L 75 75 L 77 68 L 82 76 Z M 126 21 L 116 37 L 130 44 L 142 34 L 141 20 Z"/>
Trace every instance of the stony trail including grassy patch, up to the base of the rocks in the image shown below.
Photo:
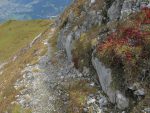
<path fill-rule="evenodd" d="M 55 29 L 50 31 L 49 38 Z M 51 55 L 48 39 L 42 42 L 47 47 L 47 53 L 39 56 L 37 63 L 29 63 L 22 70 L 23 77 L 14 85 L 16 90 L 21 89 L 15 103 L 31 109 L 32 113 L 81 113 L 83 106 L 85 111 L 94 109 L 95 113 L 100 113 L 96 103 L 104 97 L 94 85 L 89 70 L 79 72 L 68 63 L 64 51 Z"/>

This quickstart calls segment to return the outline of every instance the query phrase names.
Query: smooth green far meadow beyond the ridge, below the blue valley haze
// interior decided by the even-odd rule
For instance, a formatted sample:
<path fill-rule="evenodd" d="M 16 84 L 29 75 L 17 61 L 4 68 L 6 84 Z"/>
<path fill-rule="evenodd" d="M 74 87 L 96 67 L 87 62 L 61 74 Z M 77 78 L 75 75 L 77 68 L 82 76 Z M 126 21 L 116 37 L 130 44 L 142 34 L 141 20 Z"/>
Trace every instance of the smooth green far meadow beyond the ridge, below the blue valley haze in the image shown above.
<path fill-rule="evenodd" d="M 0 25 L 0 62 L 7 60 L 49 27 L 49 20 L 15 21 Z"/>

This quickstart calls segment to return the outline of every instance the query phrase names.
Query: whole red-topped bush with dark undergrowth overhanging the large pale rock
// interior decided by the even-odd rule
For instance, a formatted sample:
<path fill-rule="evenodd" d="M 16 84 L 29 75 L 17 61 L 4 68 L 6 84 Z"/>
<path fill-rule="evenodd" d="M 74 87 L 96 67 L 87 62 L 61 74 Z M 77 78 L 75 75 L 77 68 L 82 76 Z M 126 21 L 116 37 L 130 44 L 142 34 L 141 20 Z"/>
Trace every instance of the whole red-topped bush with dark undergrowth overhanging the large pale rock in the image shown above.
<path fill-rule="evenodd" d="M 139 15 L 142 15 L 142 18 Z M 111 33 L 97 46 L 101 61 L 112 70 L 115 69 L 112 72 L 123 70 L 121 75 L 129 77 L 128 80 L 136 80 L 142 69 L 146 68 L 145 62 L 150 59 L 149 15 L 150 9 L 142 9 L 136 15 L 139 17 L 137 20 L 128 20 L 134 22 L 134 26 L 119 26 L 116 32 Z M 120 71 L 118 74 L 120 75 Z"/>

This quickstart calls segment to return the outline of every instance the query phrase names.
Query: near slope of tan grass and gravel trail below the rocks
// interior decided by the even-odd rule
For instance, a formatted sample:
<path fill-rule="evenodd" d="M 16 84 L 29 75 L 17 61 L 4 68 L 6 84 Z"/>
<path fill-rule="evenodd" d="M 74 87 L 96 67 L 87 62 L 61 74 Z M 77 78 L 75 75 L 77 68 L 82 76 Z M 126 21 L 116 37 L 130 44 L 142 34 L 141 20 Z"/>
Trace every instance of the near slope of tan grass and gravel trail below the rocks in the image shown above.
<path fill-rule="evenodd" d="M 47 41 L 54 33 L 46 30 L 2 66 L 0 112 L 82 112 L 90 94 L 100 96 L 88 69 L 84 77 L 63 51 L 53 52 Z"/>

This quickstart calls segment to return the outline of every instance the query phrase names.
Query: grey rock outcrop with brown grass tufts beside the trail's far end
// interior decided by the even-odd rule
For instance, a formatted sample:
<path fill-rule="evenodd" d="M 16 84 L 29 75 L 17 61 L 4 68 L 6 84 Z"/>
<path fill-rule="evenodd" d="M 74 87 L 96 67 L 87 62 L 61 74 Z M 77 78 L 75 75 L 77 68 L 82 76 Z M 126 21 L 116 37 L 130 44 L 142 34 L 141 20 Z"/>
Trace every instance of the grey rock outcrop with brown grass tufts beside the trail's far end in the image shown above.
<path fill-rule="evenodd" d="M 96 4 L 98 4 L 98 6 Z M 60 17 L 58 23 L 61 23 L 61 30 L 58 38 L 58 48 L 66 50 L 69 61 L 72 60 L 72 41 L 80 38 L 81 34 L 87 32 L 92 26 L 101 25 L 102 15 L 98 7 L 101 8 L 102 4 L 103 3 L 99 1 L 89 2 L 83 0 L 83 3 L 75 1 L 71 7 L 77 9 L 68 9 L 68 16 L 65 17 L 64 14 L 64 17 Z M 78 7 L 83 8 L 83 10 L 78 9 Z M 63 18 L 65 18 L 65 20 L 63 20 Z"/>

